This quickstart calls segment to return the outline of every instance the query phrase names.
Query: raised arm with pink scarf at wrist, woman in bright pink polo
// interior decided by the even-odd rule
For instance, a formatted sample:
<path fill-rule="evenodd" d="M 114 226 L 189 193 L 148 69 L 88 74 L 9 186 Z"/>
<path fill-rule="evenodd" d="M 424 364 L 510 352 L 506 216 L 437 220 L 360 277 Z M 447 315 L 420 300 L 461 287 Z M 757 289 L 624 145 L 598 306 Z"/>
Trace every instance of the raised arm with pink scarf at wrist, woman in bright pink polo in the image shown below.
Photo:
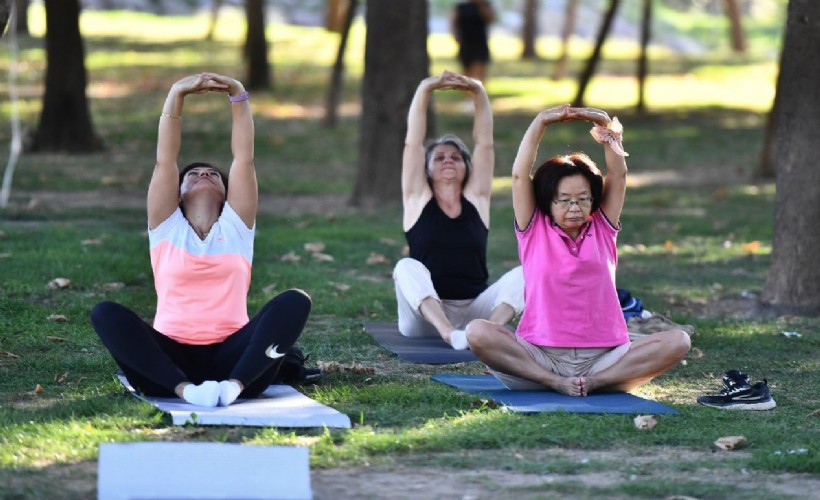
<path fill-rule="evenodd" d="M 577 119 L 589 120 L 599 130 L 593 131 L 598 142 L 603 143 L 604 158 L 606 160 L 606 176 L 604 177 L 604 194 L 601 200 L 601 210 L 609 221 L 618 225 L 626 199 L 626 159 L 621 137 L 623 129 L 617 118 L 611 120 L 606 112 L 596 108 L 573 108 L 572 113 Z"/>

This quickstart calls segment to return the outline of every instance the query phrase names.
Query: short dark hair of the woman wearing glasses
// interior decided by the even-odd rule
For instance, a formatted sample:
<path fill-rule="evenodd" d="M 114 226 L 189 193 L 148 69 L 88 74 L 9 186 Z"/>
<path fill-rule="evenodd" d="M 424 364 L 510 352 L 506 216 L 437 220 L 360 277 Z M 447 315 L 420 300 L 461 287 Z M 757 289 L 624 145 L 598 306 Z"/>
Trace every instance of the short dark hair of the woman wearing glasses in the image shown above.
<path fill-rule="evenodd" d="M 585 153 L 570 153 L 553 156 L 535 171 L 532 178 L 535 191 L 535 206 L 552 221 L 552 202 L 558 191 L 558 184 L 564 177 L 582 175 L 589 182 L 592 191 L 592 208 L 595 212 L 601 206 L 604 195 L 604 176 L 595 162 Z"/>

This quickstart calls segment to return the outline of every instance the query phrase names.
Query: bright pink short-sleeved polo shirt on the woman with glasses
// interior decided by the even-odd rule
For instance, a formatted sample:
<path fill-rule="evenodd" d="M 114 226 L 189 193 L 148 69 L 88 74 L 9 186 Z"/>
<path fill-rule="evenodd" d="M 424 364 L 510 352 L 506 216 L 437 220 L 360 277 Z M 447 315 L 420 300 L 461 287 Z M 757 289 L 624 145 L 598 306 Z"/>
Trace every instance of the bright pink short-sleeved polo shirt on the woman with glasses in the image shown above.
<path fill-rule="evenodd" d="M 539 210 L 527 228 L 516 228 L 525 282 L 517 335 L 549 347 L 613 347 L 629 341 L 615 290 L 619 230 L 600 210 L 577 241 Z"/>

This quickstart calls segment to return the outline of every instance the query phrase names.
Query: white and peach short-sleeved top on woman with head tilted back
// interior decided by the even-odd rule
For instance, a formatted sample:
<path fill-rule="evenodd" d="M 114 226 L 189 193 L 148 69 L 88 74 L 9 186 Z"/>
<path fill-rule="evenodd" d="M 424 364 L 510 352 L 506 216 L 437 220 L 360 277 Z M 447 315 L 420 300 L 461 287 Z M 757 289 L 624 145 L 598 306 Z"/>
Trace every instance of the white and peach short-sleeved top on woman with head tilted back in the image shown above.
<path fill-rule="evenodd" d="M 228 203 L 205 240 L 179 208 L 149 230 L 157 290 L 154 328 L 177 342 L 203 345 L 243 327 L 255 230 Z"/>

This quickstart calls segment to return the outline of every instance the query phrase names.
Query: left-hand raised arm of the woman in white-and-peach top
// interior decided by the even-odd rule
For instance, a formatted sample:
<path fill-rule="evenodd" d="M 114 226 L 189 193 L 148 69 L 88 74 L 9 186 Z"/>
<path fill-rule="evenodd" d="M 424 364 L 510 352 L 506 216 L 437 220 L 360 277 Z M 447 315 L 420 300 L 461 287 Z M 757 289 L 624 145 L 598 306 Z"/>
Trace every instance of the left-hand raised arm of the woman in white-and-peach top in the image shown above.
<path fill-rule="evenodd" d="M 148 227 L 154 229 L 179 206 L 179 168 L 177 158 L 182 142 L 181 121 L 185 97 L 208 91 L 225 91 L 223 84 L 208 74 L 191 75 L 171 86 L 157 131 L 157 163 L 148 185 Z"/>

